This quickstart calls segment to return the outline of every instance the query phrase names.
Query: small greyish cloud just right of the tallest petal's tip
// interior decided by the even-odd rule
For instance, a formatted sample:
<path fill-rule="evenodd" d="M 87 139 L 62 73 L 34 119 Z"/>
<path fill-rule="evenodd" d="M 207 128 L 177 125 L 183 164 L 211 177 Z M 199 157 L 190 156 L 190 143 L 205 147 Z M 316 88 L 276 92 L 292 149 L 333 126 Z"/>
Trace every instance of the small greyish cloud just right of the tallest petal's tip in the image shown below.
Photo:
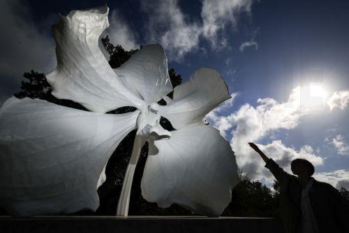
<path fill-rule="evenodd" d="M 135 34 L 126 21 L 121 17 L 119 10 L 113 9 L 109 17 L 110 26 L 107 28 L 110 41 L 114 45 L 121 45 L 125 50 L 139 48 Z"/>

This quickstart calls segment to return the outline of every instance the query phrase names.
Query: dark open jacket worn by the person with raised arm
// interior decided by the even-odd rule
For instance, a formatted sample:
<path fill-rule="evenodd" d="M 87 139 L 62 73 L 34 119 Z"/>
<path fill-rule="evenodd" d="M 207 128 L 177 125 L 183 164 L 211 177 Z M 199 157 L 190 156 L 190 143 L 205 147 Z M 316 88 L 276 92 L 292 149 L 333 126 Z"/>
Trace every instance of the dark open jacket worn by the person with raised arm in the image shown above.
<path fill-rule="evenodd" d="M 265 167 L 280 185 L 279 216 L 285 232 L 299 232 L 302 220 L 299 204 L 302 185 L 297 176 L 283 171 L 272 159 L 269 159 Z M 349 232 L 349 202 L 341 197 L 338 190 L 328 183 L 314 180 L 309 197 L 320 232 Z"/>

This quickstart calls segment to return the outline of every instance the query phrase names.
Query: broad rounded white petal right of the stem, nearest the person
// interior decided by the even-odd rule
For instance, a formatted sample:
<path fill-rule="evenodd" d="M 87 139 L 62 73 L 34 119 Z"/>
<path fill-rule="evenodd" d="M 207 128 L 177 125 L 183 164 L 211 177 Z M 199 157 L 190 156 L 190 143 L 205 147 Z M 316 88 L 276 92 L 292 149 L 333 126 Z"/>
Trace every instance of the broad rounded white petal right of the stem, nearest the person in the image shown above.
<path fill-rule="evenodd" d="M 203 125 L 172 131 L 155 141 L 142 178 L 142 195 L 160 207 L 177 203 L 197 213 L 220 215 L 239 182 L 235 155 L 218 130 Z"/>

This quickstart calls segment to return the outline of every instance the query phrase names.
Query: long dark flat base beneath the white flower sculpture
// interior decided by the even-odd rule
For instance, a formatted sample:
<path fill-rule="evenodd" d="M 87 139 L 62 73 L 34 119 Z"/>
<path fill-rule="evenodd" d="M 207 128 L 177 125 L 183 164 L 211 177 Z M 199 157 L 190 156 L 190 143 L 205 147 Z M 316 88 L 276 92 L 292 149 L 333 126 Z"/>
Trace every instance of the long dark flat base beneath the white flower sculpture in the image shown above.
<path fill-rule="evenodd" d="M 0 217 L 5 232 L 283 232 L 276 218 L 184 216 L 37 216 Z"/>

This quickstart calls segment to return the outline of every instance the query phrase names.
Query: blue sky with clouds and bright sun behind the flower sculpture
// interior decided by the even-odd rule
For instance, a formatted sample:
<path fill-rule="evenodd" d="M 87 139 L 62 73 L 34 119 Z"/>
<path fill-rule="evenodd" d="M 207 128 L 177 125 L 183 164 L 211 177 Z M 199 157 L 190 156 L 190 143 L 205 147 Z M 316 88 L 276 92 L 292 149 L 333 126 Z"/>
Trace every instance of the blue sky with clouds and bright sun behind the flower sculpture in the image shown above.
<path fill-rule="evenodd" d="M 248 141 L 285 169 L 306 157 L 315 178 L 349 188 L 348 1 L 106 2 L 113 43 L 160 43 L 184 80 L 201 66 L 218 69 L 233 98 L 207 120 L 252 178 L 272 182 Z M 19 89 L 24 71 L 54 69 L 50 27 L 59 13 L 104 3 L 2 1 L 1 102 Z"/>

